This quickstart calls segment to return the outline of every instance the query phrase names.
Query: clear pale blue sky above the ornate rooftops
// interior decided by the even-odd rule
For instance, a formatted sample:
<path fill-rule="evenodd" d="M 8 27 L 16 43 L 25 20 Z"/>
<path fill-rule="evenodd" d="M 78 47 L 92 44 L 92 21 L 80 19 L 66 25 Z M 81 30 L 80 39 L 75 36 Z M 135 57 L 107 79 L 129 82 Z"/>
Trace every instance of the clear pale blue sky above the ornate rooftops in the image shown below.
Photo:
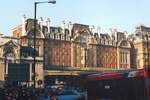
<path fill-rule="evenodd" d="M 34 2 L 43 0 L 1 0 L 0 33 L 12 35 L 11 29 L 22 23 L 22 16 L 34 17 Z M 46 1 L 46 0 L 44 0 Z M 53 26 L 80 23 L 133 33 L 139 24 L 150 25 L 150 0 L 56 0 L 56 4 L 38 4 L 37 18 L 51 19 Z"/>

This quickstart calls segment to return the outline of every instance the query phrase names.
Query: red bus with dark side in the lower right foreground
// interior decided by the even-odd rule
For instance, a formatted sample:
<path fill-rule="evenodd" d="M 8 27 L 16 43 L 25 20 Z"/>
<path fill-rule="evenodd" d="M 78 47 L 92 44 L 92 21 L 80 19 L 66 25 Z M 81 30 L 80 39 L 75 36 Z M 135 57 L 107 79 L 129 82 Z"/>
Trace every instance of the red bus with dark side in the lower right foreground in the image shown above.
<path fill-rule="evenodd" d="M 145 70 L 101 72 L 86 77 L 88 100 L 150 100 Z"/>

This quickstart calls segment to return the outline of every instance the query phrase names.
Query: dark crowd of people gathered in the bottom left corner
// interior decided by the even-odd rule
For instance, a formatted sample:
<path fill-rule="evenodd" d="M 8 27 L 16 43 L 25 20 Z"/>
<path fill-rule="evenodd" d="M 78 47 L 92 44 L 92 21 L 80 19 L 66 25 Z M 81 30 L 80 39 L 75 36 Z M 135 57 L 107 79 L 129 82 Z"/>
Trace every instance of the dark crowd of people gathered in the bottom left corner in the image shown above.
<path fill-rule="evenodd" d="M 0 100 L 41 100 L 40 97 L 44 97 L 44 100 L 57 100 L 50 90 L 22 86 L 0 89 Z"/>

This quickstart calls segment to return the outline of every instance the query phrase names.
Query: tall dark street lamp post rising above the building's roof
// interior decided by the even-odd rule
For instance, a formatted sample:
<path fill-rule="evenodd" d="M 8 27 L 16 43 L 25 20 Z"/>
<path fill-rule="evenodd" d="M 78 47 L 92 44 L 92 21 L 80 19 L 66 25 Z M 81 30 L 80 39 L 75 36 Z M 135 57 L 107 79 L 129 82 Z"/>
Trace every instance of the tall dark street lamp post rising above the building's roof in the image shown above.
<path fill-rule="evenodd" d="M 36 85 L 36 72 L 35 72 L 35 63 L 36 63 L 36 24 L 37 24 L 37 20 L 36 20 L 36 10 L 37 10 L 37 4 L 41 4 L 41 3 L 51 3 L 51 4 L 55 4 L 56 1 L 42 1 L 42 2 L 35 2 L 34 3 L 34 61 L 33 61 L 33 80 L 34 80 L 34 87 Z"/>

